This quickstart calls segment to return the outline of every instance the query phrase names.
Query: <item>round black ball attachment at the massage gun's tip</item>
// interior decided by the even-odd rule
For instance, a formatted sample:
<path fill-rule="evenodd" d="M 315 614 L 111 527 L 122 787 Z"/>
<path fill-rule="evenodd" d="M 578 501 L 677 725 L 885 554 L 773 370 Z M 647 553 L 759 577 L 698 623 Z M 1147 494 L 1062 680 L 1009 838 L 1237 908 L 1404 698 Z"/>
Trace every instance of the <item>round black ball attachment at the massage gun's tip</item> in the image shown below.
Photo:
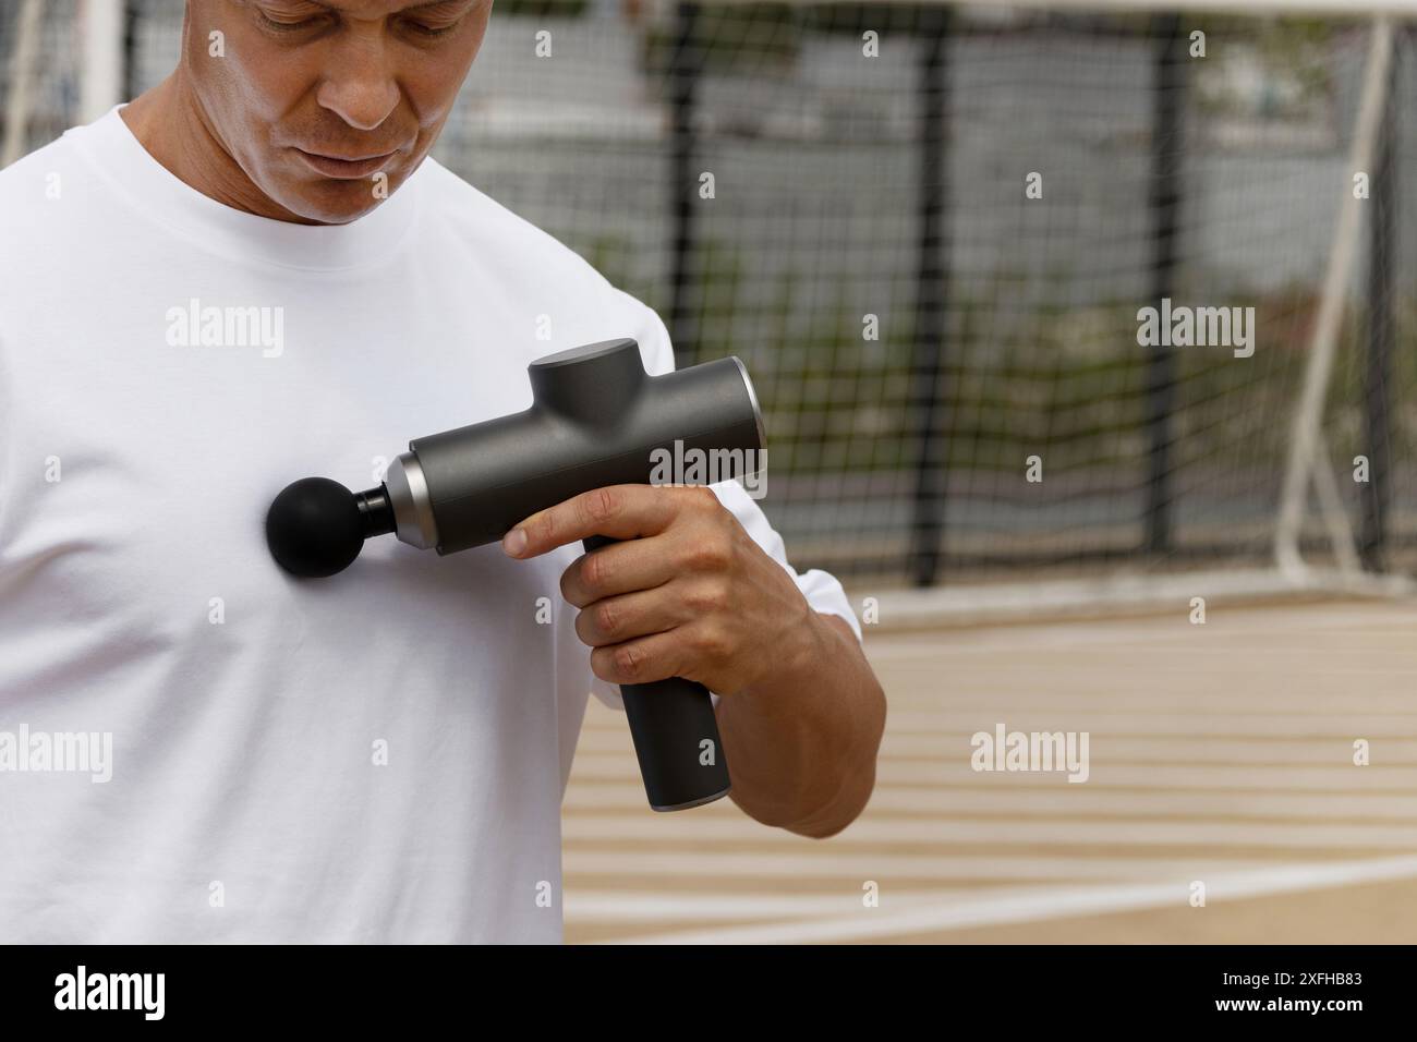
<path fill-rule="evenodd" d="M 354 493 L 329 478 L 290 482 L 266 512 L 266 544 L 292 576 L 324 578 L 344 571 L 364 547 Z"/>

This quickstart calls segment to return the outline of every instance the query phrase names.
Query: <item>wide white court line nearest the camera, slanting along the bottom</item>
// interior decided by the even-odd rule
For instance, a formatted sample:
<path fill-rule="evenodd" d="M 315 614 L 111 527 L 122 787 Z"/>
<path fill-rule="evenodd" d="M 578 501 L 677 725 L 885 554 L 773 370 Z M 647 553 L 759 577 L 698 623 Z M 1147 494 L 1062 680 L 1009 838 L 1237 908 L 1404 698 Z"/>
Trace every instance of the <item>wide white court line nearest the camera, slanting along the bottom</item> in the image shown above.
<path fill-rule="evenodd" d="M 1280 893 L 1321 890 L 1417 876 L 1417 856 L 1384 858 L 1338 865 L 1289 865 L 1204 879 L 1207 907 L 1217 902 Z M 1070 887 L 1015 893 L 966 903 L 918 904 L 891 909 L 888 890 L 881 906 L 860 907 L 850 916 L 806 923 L 764 923 L 718 930 L 642 934 L 602 944 L 803 944 L 908 937 L 1005 923 L 1036 923 L 1071 916 L 1110 914 L 1136 909 L 1187 907 L 1189 885 L 1136 883 L 1115 887 Z M 1195 909 L 1196 914 L 1204 914 Z"/>

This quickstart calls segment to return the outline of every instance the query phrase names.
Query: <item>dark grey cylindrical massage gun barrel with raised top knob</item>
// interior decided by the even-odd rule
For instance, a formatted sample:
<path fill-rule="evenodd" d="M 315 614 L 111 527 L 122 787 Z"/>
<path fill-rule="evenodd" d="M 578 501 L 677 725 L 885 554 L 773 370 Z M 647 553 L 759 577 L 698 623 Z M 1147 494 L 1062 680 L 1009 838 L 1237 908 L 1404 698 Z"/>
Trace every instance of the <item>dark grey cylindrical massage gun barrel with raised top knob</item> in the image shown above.
<path fill-rule="evenodd" d="M 711 479 L 724 481 L 762 448 L 752 387 L 733 357 L 649 376 L 635 340 L 622 339 L 541 359 L 530 374 L 524 413 L 410 442 L 439 554 L 495 543 L 581 492 L 646 483 L 666 458 L 656 449 L 670 461 L 700 449 L 720 462 Z"/>

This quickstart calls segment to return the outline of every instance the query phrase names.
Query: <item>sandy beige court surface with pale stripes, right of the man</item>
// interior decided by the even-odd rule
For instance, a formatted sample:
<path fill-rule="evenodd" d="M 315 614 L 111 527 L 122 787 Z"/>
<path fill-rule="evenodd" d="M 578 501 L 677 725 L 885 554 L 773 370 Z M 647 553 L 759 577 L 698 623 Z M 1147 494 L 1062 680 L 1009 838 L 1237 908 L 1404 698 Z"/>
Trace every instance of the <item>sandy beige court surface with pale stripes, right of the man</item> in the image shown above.
<path fill-rule="evenodd" d="M 876 794 L 826 841 L 728 800 L 655 814 L 592 699 L 567 941 L 1417 941 L 1417 605 L 1187 615 L 869 631 Z M 1085 732 L 1087 780 L 973 770 L 1000 724 Z"/>

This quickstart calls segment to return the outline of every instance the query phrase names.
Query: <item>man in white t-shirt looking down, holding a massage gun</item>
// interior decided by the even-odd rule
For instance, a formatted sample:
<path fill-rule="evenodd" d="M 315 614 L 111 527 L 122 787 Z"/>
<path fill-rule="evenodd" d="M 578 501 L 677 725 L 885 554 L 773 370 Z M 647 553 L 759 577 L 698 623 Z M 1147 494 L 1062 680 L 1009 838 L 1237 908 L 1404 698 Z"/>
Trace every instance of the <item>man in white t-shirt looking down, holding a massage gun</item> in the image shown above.
<path fill-rule="evenodd" d="M 377 483 L 526 408 L 538 356 L 673 367 L 649 308 L 427 159 L 490 7 L 190 0 L 163 84 L 0 173 L 0 940 L 558 941 L 587 692 L 626 682 L 716 692 L 758 821 L 864 807 L 859 622 L 735 482 L 324 581 L 269 559 L 290 479 Z"/>

